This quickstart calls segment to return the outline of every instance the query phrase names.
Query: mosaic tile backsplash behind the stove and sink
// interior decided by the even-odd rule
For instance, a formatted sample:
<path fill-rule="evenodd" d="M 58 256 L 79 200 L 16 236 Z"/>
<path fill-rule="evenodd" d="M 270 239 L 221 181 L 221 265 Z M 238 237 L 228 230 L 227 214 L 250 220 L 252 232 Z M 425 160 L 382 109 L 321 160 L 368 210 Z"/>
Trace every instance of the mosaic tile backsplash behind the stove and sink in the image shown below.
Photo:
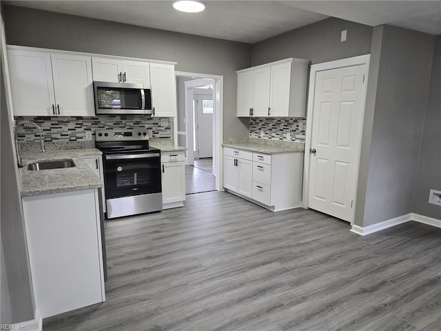
<path fill-rule="evenodd" d="M 152 118 L 144 115 L 100 115 L 97 117 L 15 117 L 16 121 L 30 120 L 37 123 L 43 131 L 45 141 L 86 141 L 86 132 L 117 128 L 147 128 L 151 137 L 171 138 L 172 124 L 170 118 Z M 32 127 L 19 128 L 19 141 L 38 141 L 37 129 Z"/>

